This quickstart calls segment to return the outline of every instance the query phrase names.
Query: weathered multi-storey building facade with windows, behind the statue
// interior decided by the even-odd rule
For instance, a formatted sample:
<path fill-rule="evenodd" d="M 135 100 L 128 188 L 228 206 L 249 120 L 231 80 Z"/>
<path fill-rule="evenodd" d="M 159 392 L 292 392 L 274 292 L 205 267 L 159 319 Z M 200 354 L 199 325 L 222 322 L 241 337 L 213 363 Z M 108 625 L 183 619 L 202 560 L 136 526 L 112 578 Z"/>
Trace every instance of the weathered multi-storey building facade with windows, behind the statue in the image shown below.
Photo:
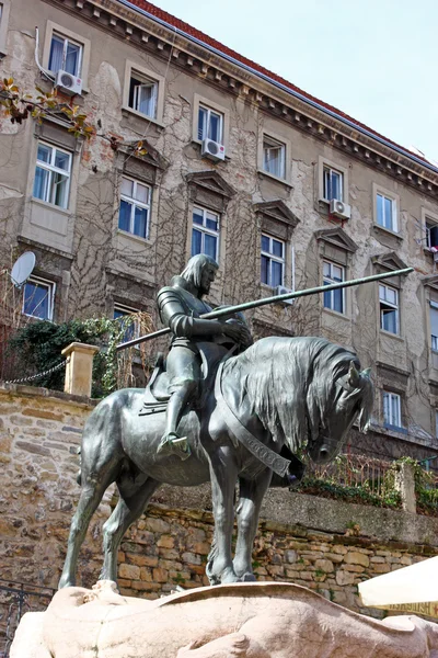
<path fill-rule="evenodd" d="M 154 315 L 157 290 L 200 251 L 220 264 L 216 304 L 413 266 L 249 319 L 257 338 L 354 349 L 376 405 L 350 449 L 434 467 L 438 169 L 145 0 L 0 5 L 2 77 L 57 87 L 103 135 L 0 118 L 2 270 L 36 256 L 21 311 Z"/>

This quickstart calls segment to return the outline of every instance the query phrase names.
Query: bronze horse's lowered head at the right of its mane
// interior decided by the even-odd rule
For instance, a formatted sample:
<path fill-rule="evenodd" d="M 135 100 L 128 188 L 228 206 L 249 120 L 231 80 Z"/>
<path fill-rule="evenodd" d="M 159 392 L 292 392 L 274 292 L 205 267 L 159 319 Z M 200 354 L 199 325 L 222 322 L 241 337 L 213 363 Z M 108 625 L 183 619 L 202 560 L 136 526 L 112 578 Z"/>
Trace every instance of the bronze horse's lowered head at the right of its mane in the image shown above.
<path fill-rule="evenodd" d="M 327 402 L 308 446 L 309 455 L 316 464 L 334 460 L 357 418 L 359 430 L 367 431 L 373 402 L 369 370 L 358 372 L 351 361 L 348 373 L 333 382 Z"/>

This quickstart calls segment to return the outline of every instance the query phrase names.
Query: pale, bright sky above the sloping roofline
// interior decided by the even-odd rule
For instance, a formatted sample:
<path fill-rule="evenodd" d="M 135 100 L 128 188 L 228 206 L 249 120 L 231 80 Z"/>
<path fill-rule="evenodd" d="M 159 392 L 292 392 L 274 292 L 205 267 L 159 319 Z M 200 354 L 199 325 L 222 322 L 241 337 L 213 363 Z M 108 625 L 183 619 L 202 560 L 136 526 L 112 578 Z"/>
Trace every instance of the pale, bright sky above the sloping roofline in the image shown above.
<path fill-rule="evenodd" d="M 438 160 L 437 0 L 154 3 L 385 137 Z"/>

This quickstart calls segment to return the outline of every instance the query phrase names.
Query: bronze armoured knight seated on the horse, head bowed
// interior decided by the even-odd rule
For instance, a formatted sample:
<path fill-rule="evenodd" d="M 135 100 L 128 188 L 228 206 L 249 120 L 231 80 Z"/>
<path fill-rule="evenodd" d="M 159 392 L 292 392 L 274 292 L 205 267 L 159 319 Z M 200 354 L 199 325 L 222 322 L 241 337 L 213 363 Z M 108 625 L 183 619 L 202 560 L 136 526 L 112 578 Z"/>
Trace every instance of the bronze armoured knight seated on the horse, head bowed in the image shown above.
<path fill-rule="evenodd" d="M 174 276 L 171 285 L 161 288 L 157 296 L 161 321 L 172 333 L 166 359 L 171 397 L 159 451 L 172 452 L 182 460 L 189 456 L 189 447 L 186 438 L 178 435 L 177 426 L 187 405 L 199 395 L 199 343 L 228 342 L 235 345 L 234 353 L 239 353 L 253 342 L 242 316 L 226 321 L 199 318 L 211 311 L 203 297 L 208 295 L 218 268 L 209 256 L 194 256 L 181 275 Z"/>

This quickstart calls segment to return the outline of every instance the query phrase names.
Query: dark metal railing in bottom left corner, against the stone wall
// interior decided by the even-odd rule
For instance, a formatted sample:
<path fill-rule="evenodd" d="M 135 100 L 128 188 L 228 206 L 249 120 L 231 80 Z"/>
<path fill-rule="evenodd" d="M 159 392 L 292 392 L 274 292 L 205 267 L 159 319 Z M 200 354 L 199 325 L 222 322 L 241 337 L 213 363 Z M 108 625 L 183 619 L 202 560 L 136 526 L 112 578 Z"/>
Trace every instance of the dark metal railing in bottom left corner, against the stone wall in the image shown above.
<path fill-rule="evenodd" d="M 55 592 L 49 587 L 0 579 L 0 658 L 8 658 L 23 614 L 46 610 Z"/>

